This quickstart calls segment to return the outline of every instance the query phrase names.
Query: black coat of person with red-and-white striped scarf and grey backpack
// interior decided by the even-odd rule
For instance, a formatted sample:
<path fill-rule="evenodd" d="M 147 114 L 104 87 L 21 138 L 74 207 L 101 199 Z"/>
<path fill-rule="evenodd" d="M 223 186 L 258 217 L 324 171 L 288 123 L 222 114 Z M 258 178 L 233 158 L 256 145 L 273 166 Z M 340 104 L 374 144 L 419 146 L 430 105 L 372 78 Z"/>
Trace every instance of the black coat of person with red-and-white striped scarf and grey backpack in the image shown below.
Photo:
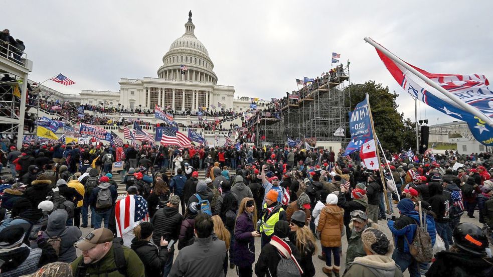
<path fill-rule="evenodd" d="M 292 241 L 284 240 L 291 248 L 292 255 L 296 258 L 296 261 L 301 260 L 301 255 L 299 254 L 298 248 L 293 244 Z M 272 273 L 271 277 L 277 277 L 277 264 L 281 260 L 281 256 L 277 252 L 274 245 L 268 243 L 264 245 L 260 255 L 258 256 L 257 263 L 255 264 L 255 274 L 257 277 L 269 276 L 269 272 Z M 282 276 L 278 276 L 282 277 Z"/>

